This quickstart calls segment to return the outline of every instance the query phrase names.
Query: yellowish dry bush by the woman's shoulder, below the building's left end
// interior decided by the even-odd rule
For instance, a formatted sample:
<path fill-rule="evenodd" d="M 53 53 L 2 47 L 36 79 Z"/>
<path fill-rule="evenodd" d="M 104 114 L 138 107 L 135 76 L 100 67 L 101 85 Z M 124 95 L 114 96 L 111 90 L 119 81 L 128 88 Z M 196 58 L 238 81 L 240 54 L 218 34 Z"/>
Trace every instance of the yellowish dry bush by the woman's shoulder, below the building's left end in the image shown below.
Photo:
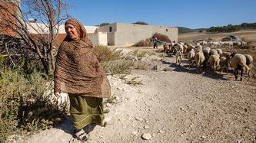
<path fill-rule="evenodd" d="M 107 46 L 96 46 L 95 50 L 101 62 L 119 60 L 124 56 L 124 54 L 121 53 L 122 50 L 111 50 Z"/>

